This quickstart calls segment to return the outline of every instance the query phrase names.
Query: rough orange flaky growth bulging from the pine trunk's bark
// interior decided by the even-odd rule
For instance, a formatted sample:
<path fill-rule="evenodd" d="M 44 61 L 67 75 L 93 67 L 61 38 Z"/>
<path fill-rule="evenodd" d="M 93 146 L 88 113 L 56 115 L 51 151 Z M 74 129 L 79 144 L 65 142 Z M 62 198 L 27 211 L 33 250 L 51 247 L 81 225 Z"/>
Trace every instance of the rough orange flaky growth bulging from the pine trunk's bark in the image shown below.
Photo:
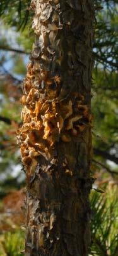
<path fill-rule="evenodd" d="M 71 142 L 91 125 L 90 110 L 83 95 L 75 92 L 71 100 L 58 102 L 60 84 L 61 77 L 49 77 L 49 72 L 40 69 L 38 62 L 28 64 L 21 98 L 23 125 L 17 138 L 21 158 L 30 173 L 37 166 L 38 156 L 49 159 L 56 142 Z"/>

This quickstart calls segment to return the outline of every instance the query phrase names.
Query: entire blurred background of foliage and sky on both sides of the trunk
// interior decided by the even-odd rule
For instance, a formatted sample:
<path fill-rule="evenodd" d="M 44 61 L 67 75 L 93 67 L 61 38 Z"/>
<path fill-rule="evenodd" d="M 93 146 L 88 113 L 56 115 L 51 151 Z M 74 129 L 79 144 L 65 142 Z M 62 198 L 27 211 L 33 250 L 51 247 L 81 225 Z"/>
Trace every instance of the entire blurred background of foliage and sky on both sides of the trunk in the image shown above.
<path fill-rule="evenodd" d="M 90 255 L 118 255 L 117 0 L 95 0 Z M 23 78 L 32 50 L 30 0 L 0 1 L 0 255 L 24 247 L 25 173 L 16 145 Z M 21 210 L 22 208 L 22 210 Z"/>

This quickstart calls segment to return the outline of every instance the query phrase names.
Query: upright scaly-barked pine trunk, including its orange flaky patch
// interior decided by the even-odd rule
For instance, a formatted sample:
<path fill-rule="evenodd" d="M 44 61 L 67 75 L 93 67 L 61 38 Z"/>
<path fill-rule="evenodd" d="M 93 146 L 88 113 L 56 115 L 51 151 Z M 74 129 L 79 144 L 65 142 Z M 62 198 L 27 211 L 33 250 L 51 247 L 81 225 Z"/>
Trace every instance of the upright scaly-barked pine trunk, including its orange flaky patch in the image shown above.
<path fill-rule="evenodd" d="M 86 256 L 93 0 L 32 0 L 33 45 L 18 130 L 27 174 L 25 255 Z"/>

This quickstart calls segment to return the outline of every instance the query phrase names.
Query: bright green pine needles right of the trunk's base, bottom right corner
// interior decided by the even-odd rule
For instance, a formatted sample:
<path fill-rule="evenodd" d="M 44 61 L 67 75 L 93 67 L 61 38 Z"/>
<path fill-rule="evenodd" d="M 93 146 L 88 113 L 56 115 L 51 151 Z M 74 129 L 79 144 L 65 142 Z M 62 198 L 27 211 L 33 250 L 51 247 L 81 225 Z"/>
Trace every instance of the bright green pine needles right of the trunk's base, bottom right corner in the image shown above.
<path fill-rule="evenodd" d="M 105 194 L 91 192 L 90 255 L 117 256 L 118 252 L 118 201 L 117 188 L 108 186 Z"/>

